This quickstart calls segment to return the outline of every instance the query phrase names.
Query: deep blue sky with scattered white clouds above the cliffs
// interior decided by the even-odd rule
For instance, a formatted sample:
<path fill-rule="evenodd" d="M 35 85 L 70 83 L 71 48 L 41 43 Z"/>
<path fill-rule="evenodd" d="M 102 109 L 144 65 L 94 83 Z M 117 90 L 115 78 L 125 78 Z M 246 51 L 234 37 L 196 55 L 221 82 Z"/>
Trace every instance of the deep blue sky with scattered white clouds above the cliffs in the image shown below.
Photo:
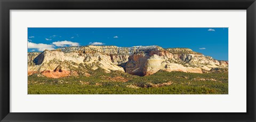
<path fill-rule="evenodd" d="M 186 47 L 228 60 L 228 28 L 28 28 L 28 52 L 78 45 Z"/>

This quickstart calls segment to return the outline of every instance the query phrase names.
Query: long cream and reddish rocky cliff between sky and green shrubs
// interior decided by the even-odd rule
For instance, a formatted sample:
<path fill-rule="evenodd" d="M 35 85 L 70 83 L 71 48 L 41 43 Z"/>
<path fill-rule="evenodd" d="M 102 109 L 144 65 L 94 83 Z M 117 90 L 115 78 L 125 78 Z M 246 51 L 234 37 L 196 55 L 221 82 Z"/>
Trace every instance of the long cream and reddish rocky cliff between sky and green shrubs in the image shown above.
<path fill-rule="evenodd" d="M 228 69 L 228 61 L 214 60 L 189 48 L 159 46 L 77 46 L 28 53 L 28 75 L 90 76 L 98 68 L 138 76 L 152 75 L 159 70 L 203 73 Z"/>

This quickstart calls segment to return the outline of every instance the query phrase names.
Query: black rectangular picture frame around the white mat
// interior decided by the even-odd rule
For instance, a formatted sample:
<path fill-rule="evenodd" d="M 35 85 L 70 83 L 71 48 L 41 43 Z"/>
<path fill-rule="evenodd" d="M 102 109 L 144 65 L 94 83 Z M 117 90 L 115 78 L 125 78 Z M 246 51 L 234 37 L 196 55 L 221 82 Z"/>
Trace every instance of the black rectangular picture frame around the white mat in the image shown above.
<path fill-rule="evenodd" d="M 0 0 L 1 121 L 256 121 L 255 0 Z M 10 112 L 10 10 L 247 10 L 245 113 L 13 113 Z M 244 81 L 245 82 L 245 81 Z M 235 107 L 235 106 L 234 106 Z"/>

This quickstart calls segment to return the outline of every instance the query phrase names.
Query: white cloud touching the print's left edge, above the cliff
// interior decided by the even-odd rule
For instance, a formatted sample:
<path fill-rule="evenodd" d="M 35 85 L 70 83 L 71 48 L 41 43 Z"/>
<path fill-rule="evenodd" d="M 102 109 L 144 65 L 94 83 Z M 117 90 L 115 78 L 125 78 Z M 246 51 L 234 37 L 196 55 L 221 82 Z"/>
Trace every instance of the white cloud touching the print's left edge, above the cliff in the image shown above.
<path fill-rule="evenodd" d="M 48 45 L 48 44 L 36 44 L 28 42 L 28 48 L 36 48 L 38 51 L 44 51 L 44 50 L 54 50 L 54 45 Z"/>

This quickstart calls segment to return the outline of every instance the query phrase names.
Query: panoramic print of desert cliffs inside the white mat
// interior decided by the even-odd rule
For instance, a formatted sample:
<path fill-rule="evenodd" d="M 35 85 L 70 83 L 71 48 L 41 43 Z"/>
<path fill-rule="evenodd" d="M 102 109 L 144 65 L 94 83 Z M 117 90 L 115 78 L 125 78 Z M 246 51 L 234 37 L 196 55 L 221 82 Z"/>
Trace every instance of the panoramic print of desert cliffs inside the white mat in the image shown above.
<path fill-rule="evenodd" d="M 228 94 L 228 28 L 28 28 L 28 94 Z"/>

